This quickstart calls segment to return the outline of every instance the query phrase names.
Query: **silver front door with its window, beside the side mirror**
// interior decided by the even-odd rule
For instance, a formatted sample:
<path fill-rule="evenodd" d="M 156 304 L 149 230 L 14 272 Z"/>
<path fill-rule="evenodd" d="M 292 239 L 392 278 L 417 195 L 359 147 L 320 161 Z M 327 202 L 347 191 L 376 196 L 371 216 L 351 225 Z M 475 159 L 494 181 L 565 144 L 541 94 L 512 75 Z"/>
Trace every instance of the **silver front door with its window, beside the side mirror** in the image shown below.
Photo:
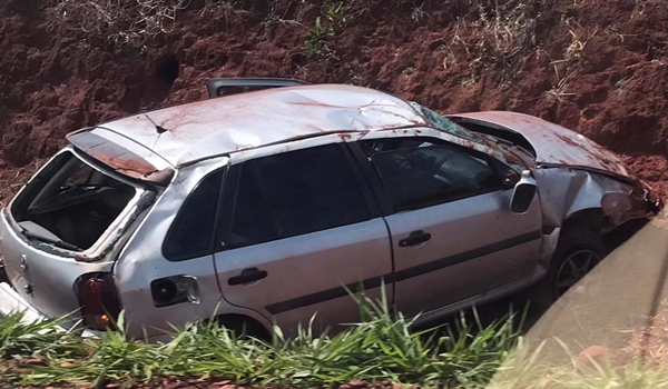
<path fill-rule="evenodd" d="M 510 211 L 510 168 L 433 138 L 356 143 L 380 178 L 394 252 L 394 301 L 428 312 L 530 277 L 541 247 L 541 213 Z M 503 171 L 499 171 L 501 170 Z"/>

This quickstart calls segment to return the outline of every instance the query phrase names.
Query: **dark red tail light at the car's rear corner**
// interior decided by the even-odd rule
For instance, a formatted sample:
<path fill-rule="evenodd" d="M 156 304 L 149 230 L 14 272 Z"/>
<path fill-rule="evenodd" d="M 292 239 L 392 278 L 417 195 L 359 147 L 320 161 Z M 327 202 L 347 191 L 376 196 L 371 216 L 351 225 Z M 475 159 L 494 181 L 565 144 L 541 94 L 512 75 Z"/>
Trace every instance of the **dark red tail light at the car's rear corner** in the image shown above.
<path fill-rule="evenodd" d="M 75 282 L 84 326 L 94 330 L 114 329 L 120 300 L 110 273 L 88 273 Z"/>

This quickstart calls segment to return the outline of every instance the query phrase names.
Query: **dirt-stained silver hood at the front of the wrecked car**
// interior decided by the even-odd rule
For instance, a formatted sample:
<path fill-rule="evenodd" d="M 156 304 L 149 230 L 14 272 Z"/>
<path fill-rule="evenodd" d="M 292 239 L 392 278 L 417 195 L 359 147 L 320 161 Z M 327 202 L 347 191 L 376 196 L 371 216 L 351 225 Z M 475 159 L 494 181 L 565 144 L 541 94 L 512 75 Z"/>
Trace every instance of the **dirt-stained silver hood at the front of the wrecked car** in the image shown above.
<path fill-rule="evenodd" d="M 492 130 L 499 131 L 500 138 L 503 138 L 502 132 L 520 133 L 533 147 L 536 162 L 539 164 L 569 166 L 637 179 L 611 151 L 582 134 L 537 117 L 508 111 L 456 113 L 449 117 L 492 127 Z"/>

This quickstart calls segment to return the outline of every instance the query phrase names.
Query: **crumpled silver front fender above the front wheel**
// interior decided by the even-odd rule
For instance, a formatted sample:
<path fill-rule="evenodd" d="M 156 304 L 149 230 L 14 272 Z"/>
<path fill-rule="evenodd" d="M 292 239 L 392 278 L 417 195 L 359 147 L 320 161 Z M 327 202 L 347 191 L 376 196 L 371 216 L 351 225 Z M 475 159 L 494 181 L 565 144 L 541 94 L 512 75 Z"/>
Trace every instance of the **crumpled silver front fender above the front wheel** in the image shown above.
<path fill-rule="evenodd" d="M 543 226 L 559 227 L 571 215 L 601 209 L 613 226 L 645 216 L 645 203 L 633 187 L 581 169 L 533 170 L 543 212 Z"/>

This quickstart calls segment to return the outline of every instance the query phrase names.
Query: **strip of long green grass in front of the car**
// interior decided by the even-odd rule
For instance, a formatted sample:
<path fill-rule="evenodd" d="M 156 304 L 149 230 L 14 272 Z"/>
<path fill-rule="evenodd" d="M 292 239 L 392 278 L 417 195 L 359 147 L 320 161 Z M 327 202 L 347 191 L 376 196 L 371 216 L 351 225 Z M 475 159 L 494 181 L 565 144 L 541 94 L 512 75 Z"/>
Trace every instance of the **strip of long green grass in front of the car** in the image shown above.
<path fill-rule="evenodd" d="M 174 330 L 165 345 L 128 340 L 122 331 L 82 339 L 58 332 L 60 320 L 26 325 L 0 319 L 0 387 L 156 381 L 166 377 L 232 380 L 261 387 L 333 388 L 350 381 L 392 381 L 424 388 L 668 388 L 665 367 L 541 366 L 541 347 L 524 345 L 517 316 L 482 326 L 462 315 L 452 327 L 411 330 L 386 301 L 354 297 L 363 320 L 334 336 L 315 337 L 311 326 L 293 338 L 237 338 L 215 325 Z M 475 313 L 475 312 L 474 312 Z M 124 328 L 122 315 L 118 327 Z M 600 365 L 599 365 L 600 363 Z"/>

